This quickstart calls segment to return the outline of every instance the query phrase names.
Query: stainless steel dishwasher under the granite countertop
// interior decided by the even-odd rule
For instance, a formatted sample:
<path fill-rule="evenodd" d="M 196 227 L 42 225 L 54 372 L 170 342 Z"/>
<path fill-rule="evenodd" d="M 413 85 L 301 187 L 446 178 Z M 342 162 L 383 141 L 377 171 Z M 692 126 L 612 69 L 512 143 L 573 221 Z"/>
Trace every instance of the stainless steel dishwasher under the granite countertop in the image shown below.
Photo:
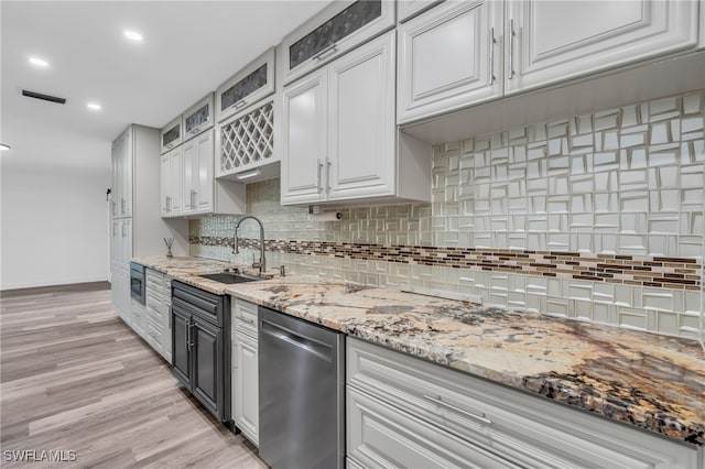
<path fill-rule="evenodd" d="M 345 466 L 345 335 L 259 308 L 259 455 L 274 469 Z"/>

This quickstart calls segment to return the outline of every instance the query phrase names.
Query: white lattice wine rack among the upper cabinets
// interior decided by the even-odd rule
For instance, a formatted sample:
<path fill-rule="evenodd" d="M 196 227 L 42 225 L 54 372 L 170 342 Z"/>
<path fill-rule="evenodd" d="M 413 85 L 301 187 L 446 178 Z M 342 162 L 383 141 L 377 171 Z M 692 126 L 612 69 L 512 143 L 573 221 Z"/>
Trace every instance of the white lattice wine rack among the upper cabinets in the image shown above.
<path fill-rule="evenodd" d="M 220 173 L 237 173 L 272 160 L 274 110 L 272 101 L 220 127 Z M 258 164 L 259 165 L 259 164 Z"/>

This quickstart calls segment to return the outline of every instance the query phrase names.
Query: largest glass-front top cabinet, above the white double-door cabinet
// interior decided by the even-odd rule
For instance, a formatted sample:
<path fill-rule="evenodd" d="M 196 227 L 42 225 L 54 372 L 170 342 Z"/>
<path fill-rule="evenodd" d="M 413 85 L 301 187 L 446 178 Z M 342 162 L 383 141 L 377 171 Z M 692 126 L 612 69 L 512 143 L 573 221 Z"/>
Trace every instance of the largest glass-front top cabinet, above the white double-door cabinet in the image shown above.
<path fill-rule="evenodd" d="M 318 68 L 394 25 L 393 1 L 335 1 L 282 41 L 284 83 Z"/>

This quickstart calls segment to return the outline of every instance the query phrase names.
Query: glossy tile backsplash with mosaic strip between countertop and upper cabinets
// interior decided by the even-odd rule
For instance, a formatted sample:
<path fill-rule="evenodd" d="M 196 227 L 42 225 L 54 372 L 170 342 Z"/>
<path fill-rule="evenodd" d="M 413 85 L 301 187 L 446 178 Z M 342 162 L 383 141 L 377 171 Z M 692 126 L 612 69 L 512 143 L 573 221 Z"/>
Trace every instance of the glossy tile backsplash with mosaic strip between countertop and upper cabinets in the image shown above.
<path fill-rule="evenodd" d="M 268 264 L 289 272 L 698 337 L 704 109 L 701 90 L 448 142 L 430 162 L 432 204 L 308 221 L 271 179 L 248 186 L 248 214 L 264 222 Z M 251 263 L 251 242 L 231 254 L 236 219 L 192 220 L 192 254 Z"/>

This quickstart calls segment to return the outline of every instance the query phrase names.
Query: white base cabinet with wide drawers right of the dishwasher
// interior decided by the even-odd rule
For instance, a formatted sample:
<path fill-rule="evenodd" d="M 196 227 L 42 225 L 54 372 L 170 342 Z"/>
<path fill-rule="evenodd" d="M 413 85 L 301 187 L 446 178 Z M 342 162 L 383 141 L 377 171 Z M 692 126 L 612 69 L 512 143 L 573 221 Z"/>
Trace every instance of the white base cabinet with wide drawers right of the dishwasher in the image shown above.
<path fill-rule="evenodd" d="M 698 450 L 347 340 L 347 452 L 365 468 L 696 468 Z"/>

